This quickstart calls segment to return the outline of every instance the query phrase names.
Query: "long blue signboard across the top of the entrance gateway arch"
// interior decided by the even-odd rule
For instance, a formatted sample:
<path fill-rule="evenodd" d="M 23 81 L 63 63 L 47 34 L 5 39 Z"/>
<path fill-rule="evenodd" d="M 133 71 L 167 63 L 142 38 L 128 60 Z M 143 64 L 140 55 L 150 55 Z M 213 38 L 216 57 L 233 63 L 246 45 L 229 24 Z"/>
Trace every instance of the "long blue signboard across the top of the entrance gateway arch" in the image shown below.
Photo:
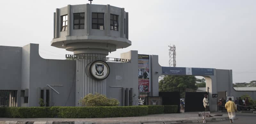
<path fill-rule="evenodd" d="M 163 75 L 214 75 L 213 68 L 162 67 Z"/>

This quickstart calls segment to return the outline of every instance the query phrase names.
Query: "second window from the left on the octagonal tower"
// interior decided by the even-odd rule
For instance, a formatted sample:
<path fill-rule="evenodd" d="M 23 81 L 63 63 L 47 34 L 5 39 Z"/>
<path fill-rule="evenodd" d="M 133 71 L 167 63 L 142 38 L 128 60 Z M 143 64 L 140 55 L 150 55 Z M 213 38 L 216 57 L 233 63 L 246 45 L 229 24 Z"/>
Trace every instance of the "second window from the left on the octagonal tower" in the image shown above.
<path fill-rule="evenodd" d="M 74 29 L 84 29 L 84 13 L 74 13 Z"/>

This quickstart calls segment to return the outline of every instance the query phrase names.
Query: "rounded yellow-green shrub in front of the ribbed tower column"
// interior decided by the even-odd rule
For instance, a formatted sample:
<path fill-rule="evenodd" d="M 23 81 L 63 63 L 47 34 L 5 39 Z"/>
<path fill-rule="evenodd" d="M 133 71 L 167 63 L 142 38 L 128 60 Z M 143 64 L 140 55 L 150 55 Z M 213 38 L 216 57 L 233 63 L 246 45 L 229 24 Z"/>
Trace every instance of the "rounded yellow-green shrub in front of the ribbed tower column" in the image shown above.
<path fill-rule="evenodd" d="M 115 98 L 107 98 L 99 93 L 88 94 L 81 101 L 84 106 L 118 106 L 120 103 Z"/>

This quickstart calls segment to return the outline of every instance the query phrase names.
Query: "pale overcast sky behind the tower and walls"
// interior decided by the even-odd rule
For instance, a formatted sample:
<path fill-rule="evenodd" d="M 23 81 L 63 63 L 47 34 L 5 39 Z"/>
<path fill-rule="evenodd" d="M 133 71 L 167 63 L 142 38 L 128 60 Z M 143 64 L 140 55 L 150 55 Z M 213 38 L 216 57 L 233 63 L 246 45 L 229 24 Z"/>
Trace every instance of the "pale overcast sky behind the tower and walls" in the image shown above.
<path fill-rule="evenodd" d="M 50 46 L 53 12 L 87 0 L 0 0 L 0 45 L 38 43 L 43 58 L 72 54 Z M 256 0 L 94 0 L 129 12 L 132 46 L 109 57 L 138 50 L 159 55 L 169 66 L 168 45 L 176 45 L 177 67 L 232 69 L 233 82 L 256 80 Z"/>

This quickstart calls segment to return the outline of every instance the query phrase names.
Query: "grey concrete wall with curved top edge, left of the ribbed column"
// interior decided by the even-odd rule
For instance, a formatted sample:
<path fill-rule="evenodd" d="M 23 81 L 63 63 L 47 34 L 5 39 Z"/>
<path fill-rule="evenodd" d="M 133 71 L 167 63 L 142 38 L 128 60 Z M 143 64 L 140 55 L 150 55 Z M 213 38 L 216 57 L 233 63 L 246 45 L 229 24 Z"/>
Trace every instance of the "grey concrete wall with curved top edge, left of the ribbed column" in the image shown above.
<path fill-rule="evenodd" d="M 75 61 L 41 58 L 38 44 L 30 44 L 29 106 L 38 106 L 38 88 L 44 89 L 47 84 L 63 85 L 52 86 L 60 94 L 52 90 L 50 105 L 75 106 L 75 69 Z"/>

